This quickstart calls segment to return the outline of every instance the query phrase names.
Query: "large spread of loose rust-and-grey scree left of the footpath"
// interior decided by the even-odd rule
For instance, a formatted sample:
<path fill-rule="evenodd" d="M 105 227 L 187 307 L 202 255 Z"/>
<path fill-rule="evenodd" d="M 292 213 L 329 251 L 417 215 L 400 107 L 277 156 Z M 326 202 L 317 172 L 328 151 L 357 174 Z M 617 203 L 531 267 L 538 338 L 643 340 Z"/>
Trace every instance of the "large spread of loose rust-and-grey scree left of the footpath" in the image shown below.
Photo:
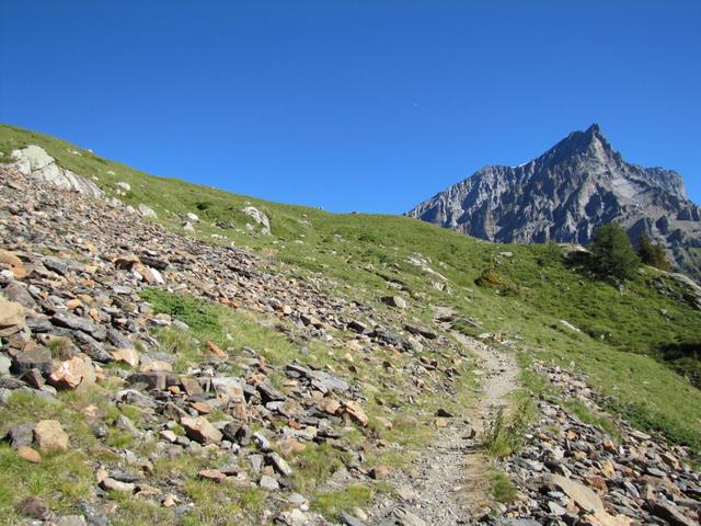
<path fill-rule="evenodd" d="M 203 469 L 200 479 L 279 494 L 264 512 L 266 519 L 324 524 L 309 512 L 308 498 L 292 491 L 294 457 L 329 444 L 346 453 L 344 469 L 369 477 L 363 450 L 344 438 L 352 427 L 365 428 L 369 418 L 364 389 L 306 359 L 304 342 L 318 339 L 378 361 L 378 370 L 405 373 L 402 384 L 377 387 L 405 396 L 450 392 L 453 362 L 417 354 L 448 342 L 428 328 L 404 328 L 399 309 L 394 319 L 326 296 L 319 283 L 284 277 L 249 252 L 179 236 L 124 208 L 31 182 L 8 167 L 0 176 L 0 403 L 20 391 L 54 403 L 59 391 L 99 385 L 111 387 L 105 396 L 116 408 L 141 414 L 138 423 L 125 414 L 105 423 L 99 408 L 84 408 L 91 433 L 118 461 L 92 461 L 95 488 L 82 515 L 56 517 L 35 498 L 18 505 L 24 515 L 107 524 L 115 493 L 184 515 L 193 507 L 187 481 L 163 480 L 153 466 L 191 455 L 218 466 Z M 188 328 L 151 309 L 140 295 L 149 287 L 258 313 L 298 343 L 300 354 L 274 366 L 256 350 L 207 342 L 200 363 L 175 371 L 175 357 L 161 351 L 153 330 Z M 374 357 L 377 348 L 403 358 L 382 364 Z M 349 353 L 346 362 L 353 363 Z M 272 376 L 285 378 L 284 386 L 275 387 Z M 110 445 L 115 433 L 151 444 L 152 453 Z M 54 420 L 13 425 L 5 439 L 28 462 L 76 442 Z"/>

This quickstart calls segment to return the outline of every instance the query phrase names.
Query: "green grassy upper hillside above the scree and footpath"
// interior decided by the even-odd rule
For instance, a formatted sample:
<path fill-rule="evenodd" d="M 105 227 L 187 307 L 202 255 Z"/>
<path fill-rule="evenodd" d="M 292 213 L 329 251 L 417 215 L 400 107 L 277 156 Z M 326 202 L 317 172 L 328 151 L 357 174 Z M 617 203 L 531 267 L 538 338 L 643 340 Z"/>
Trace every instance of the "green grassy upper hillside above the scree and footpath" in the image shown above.
<path fill-rule="evenodd" d="M 433 306 L 452 307 L 472 320 L 466 332 L 499 334 L 526 362 L 579 366 L 611 410 L 701 446 L 701 391 L 678 374 L 698 375 L 698 362 L 669 351 L 698 350 L 701 312 L 653 268 L 614 287 L 565 265 L 553 245 L 499 245 L 405 217 L 274 204 L 151 176 L 62 140 L 0 126 L 1 160 L 30 144 L 64 168 L 96 178 L 108 195 L 151 206 L 169 228 L 182 230 L 184 215 L 195 213 L 202 222 L 184 233 L 249 248 L 334 294 L 364 300 L 400 294 L 425 321 Z M 126 195 L 118 193 L 122 181 L 131 187 Z M 241 209 L 249 203 L 269 217 L 271 236 L 246 228 L 251 219 Z"/>

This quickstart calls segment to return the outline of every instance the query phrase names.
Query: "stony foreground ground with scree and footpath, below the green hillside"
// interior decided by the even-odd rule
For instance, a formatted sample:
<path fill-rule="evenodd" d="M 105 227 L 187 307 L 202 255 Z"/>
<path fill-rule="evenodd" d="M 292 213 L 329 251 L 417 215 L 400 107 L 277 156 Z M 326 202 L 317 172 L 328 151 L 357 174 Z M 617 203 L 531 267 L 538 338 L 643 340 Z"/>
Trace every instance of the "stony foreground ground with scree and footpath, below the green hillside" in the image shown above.
<path fill-rule="evenodd" d="M 67 483 L 81 488 L 68 502 L 2 488 L 22 496 L 0 499 L 13 513 L 0 521 L 323 525 L 333 518 L 315 498 L 349 487 L 376 498 L 332 514 L 348 525 L 699 519 L 689 451 L 623 422 L 620 436 L 582 422 L 563 400 L 596 413 L 596 396 L 564 370 L 540 366 L 558 395 L 537 401 L 518 453 L 491 458 L 482 445 L 517 387 L 517 346 L 452 331 L 450 311 L 428 327 L 401 294 L 337 297 L 321 278 L 290 277 L 118 203 L 9 167 L 0 179 L 0 453 L 37 477 L 78 458 Z M 227 345 L 229 333 L 197 341 L 177 309 L 147 301 L 152 290 L 217 305 L 240 331 L 252 322 L 285 345 Z M 411 441 L 425 433 L 429 441 Z M 512 502 L 494 503 L 494 470 L 515 483 Z M 242 494 L 256 495 L 254 513 L 234 499 Z M 120 515 L 127 506 L 131 515 Z"/>

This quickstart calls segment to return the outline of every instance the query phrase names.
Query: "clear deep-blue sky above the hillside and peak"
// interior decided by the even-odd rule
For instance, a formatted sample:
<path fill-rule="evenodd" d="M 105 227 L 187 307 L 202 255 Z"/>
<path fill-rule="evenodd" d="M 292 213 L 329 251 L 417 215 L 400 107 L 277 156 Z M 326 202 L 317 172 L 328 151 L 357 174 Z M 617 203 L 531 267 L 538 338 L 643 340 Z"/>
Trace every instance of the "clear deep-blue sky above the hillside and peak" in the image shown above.
<path fill-rule="evenodd" d="M 597 122 L 701 203 L 700 27 L 698 0 L 0 0 L 0 122 L 392 214 Z"/>

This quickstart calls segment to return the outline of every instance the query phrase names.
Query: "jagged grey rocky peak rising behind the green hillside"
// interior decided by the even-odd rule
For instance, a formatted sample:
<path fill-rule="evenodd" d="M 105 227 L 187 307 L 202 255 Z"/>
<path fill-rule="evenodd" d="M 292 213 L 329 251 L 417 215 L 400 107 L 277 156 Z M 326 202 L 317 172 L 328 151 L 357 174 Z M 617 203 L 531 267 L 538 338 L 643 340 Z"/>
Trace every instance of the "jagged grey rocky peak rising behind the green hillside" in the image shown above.
<path fill-rule="evenodd" d="M 635 242 L 647 233 L 674 263 L 701 274 L 701 208 L 681 175 L 625 162 L 598 125 L 574 132 L 518 167 L 485 167 L 407 213 L 497 242 L 587 243 L 619 222 Z"/>

